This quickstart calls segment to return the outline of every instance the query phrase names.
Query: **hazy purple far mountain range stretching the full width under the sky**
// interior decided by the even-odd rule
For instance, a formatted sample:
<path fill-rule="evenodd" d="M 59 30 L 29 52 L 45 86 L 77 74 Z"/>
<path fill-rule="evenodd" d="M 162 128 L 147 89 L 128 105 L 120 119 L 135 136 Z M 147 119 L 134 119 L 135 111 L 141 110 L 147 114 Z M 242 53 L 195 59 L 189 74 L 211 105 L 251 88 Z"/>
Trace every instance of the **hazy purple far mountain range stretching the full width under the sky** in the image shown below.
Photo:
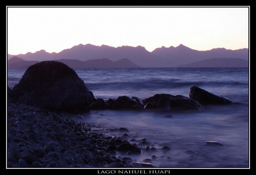
<path fill-rule="evenodd" d="M 125 59 L 134 66 L 149 67 L 178 67 L 181 65 L 188 65 L 206 59 L 243 59 L 248 62 L 249 54 L 248 49 L 230 50 L 225 48 L 215 48 L 211 50 L 199 51 L 186 47 L 180 44 L 178 47 L 161 47 L 156 48 L 152 52 L 147 51 L 144 47 L 137 46 L 122 46 L 110 47 L 108 45 L 92 45 L 92 44 L 79 44 L 70 49 L 64 49 L 59 53 L 48 53 L 45 50 L 40 50 L 35 53 L 26 53 L 18 55 L 8 54 L 8 60 L 13 56 L 17 56 L 26 61 L 43 61 L 43 60 L 76 60 L 88 61 L 106 59 L 112 61 L 119 61 Z M 101 60 L 102 61 L 102 60 Z M 219 60 L 218 60 L 219 61 Z M 235 61 L 235 60 L 234 60 Z M 32 63 L 32 62 L 31 62 Z M 224 64 L 224 62 L 223 62 Z M 225 61 L 225 65 L 231 65 L 231 62 Z M 84 65 L 84 64 L 83 64 Z M 114 66 L 115 67 L 115 66 Z"/>

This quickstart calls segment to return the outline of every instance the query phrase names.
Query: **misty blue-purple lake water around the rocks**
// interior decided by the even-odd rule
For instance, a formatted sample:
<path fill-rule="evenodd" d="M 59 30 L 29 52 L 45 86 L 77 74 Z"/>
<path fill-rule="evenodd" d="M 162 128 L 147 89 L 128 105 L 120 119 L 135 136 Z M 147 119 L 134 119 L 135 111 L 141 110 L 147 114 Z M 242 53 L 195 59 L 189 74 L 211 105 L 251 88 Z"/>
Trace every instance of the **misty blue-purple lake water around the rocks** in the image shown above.
<path fill-rule="evenodd" d="M 234 104 L 205 106 L 200 112 L 94 110 L 83 115 L 94 130 L 106 135 L 125 127 L 127 140 L 149 147 L 132 156 L 135 161 L 151 159 L 156 167 L 248 167 L 249 166 L 249 75 L 248 68 L 133 68 L 74 69 L 95 97 L 102 99 L 155 94 L 188 96 L 191 86 L 232 100 Z M 16 85 L 24 69 L 8 69 L 8 86 Z M 171 115 L 166 118 L 165 116 Z M 206 146 L 218 141 L 223 146 Z M 171 151 L 163 151 L 168 146 Z M 145 147 L 145 146 L 142 146 Z M 117 155 L 118 156 L 118 155 Z M 129 157 L 127 155 L 120 155 Z M 156 156 L 156 158 L 152 158 Z"/>

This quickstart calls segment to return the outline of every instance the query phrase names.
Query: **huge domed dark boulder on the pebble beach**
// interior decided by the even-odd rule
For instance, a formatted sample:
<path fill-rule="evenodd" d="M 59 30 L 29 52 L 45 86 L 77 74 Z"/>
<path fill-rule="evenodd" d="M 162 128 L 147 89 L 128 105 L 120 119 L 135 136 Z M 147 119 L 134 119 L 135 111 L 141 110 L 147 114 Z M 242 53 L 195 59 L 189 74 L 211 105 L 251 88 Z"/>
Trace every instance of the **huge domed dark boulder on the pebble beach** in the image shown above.
<path fill-rule="evenodd" d="M 12 89 L 21 103 L 53 111 L 84 112 L 92 97 L 76 72 L 57 61 L 30 66 Z"/>

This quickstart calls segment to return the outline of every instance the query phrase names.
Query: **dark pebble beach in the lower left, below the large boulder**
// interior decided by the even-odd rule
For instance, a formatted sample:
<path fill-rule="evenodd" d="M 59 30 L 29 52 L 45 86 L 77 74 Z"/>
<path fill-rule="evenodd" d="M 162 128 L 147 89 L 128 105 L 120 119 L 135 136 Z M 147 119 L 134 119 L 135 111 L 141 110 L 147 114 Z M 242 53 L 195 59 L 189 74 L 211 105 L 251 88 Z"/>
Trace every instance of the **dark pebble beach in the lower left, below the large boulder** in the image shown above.
<path fill-rule="evenodd" d="M 129 155 L 142 148 L 125 137 L 91 130 L 69 114 L 18 103 L 8 104 L 7 167 L 154 167 L 134 162 Z M 126 157 L 116 157 L 116 151 Z"/>

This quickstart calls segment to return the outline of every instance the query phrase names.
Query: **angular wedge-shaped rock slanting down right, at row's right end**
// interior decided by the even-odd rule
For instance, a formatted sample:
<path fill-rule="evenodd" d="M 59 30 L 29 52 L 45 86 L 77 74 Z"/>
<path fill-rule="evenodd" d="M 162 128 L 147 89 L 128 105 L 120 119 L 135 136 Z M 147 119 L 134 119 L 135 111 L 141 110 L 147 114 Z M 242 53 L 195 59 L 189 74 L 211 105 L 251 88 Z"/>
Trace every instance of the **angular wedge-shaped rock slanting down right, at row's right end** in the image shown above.
<path fill-rule="evenodd" d="M 189 97 L 190 99 L 198 101 L 202 105 L 232 104 L 231 100 L 223 96 L 211 94 L 210 92 L 197 86 L 190 87 Z"/>

